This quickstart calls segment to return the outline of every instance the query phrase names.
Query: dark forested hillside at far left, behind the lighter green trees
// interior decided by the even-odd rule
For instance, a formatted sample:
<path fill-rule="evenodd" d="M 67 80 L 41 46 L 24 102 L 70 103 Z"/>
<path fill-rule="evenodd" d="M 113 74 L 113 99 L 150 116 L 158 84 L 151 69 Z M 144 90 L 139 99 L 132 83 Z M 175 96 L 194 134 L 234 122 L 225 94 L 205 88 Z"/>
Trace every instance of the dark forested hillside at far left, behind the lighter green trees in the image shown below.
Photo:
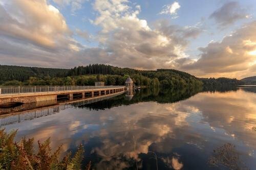
<path fill-rule="evenodd" d="M 0 65 L 0 84 L 6 81 L 26 81 L 30 77 L 66 77 L 70 69 Z"/>

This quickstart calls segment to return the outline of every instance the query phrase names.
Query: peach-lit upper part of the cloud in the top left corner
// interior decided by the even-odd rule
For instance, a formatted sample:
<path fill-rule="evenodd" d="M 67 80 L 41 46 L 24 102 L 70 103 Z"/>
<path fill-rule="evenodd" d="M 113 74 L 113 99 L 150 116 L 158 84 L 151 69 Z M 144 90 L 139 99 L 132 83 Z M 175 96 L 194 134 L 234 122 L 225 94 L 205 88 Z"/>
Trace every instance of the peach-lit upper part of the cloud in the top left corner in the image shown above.
<path fill-rule="evenodd" d="M 14 0 L 0 6 L 0 13 L 1 35 L 53 48 L 71 34 L 59 10 L 44 0 Z"/>

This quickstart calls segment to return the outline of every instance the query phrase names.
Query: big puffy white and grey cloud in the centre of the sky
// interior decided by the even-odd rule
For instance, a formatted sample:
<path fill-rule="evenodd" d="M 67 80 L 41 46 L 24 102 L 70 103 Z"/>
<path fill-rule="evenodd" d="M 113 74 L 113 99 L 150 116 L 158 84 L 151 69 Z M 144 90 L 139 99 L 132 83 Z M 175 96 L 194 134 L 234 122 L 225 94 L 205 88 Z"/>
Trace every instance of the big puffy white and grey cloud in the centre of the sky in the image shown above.
<path fill-rule="evenodd" d="M 113 65 L 139 69 L 171 67 L 171 61 L 185 56 L 186 39 L 201 32 L 198 28 L 171 26 L 167 21 L 158 21 L 153 28 L 138 17 L 140 8 L 130 5 L 126 0 L 96 0 L 93 4 L 97 16 L 91 22 L 101 27 L 97 38 L 104 50 L 100 53 L 105 53 L 105 59 Z"/>

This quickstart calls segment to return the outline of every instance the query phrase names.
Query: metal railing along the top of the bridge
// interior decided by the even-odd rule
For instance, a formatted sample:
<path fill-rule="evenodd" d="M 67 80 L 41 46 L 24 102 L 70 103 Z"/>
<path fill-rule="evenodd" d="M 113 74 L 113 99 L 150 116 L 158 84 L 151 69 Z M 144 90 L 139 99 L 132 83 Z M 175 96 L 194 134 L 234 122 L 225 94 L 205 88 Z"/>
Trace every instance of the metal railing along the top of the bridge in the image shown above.
<path fill-rule="evenodd" d="M 124 86 L 0 86 L 0 94 L 121 88 Z"/>

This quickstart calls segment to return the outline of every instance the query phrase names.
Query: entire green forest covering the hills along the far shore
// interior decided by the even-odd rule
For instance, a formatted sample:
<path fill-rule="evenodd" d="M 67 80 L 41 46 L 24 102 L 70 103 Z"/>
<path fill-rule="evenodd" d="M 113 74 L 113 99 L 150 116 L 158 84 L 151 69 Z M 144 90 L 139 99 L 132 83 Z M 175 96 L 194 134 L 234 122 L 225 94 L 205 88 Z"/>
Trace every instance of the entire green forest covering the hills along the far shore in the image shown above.
<path fill-rule="evenodd" d="M 96 81 L 103 81 L 105 85 L 124 85 L 129 76 L 135 85 L 145 87 L 184 88 L 198 87 L 203 84 L 206 86 L 241 84 L 237 79 L 199 79 L 175 69 L 136 70 L 104 64 L 90 64 L 71 69 L 0 65 L 0 71 L 2 86 L 88 86 L 94 85 Z"/>

